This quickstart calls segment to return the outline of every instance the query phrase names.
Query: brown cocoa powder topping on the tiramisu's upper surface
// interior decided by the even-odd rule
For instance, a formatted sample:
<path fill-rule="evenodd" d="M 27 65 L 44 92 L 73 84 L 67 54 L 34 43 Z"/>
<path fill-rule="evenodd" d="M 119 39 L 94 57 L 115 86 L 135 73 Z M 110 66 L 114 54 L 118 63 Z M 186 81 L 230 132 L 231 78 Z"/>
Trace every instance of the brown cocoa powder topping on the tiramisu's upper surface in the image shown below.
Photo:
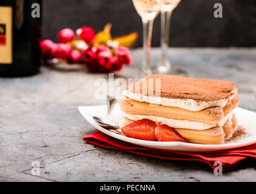
<path fill-rule="evenodd" d="M 156 95 L 157 79 L 161 82 L 160 95 L 162 98 L 194 99 L 198 102 L 209 102 L 229 98 L 232 95 L 232 90 L 236 88 L 234 83 L 229 81 L 156 74 L 141 79 L 131 87 L 130 92 L 147 96 Z"/>

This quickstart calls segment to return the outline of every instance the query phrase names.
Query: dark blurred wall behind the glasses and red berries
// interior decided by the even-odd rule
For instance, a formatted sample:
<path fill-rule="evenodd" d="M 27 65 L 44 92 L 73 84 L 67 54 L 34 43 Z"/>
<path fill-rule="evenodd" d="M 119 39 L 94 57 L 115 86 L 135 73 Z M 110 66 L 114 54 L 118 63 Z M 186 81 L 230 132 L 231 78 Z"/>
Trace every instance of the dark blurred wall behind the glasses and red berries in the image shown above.
<path fill-rule="evenodd" d="M 223 5 L 223 18 L 214 18 L 213 5 Z M 142 45 L 142 21 L 131 0 L 44 0 L 43 39 L 57 41 L 62 28 L 76 30 L 89 25 L 96 32 L 108 22 L 112 35 L 138 32 Z M 160 16 L 154 21 L 153 46 L 159 46 Z M 173 11 L 171 47 L 256 46 L 255 0 L 182 0 Z"/>

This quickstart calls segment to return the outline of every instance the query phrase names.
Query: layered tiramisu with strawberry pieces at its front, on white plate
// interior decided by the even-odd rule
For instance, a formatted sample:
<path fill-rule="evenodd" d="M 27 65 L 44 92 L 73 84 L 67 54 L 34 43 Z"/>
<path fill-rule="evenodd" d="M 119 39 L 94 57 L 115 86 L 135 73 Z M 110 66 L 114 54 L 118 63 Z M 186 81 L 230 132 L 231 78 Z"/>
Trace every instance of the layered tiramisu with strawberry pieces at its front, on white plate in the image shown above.
<path fill-rule="evenodd" d="M 131 138 L 221 144 L 237 125 L 238 102 L 233 82 L 151 75 L 123 93 L 120 127 Z"/>

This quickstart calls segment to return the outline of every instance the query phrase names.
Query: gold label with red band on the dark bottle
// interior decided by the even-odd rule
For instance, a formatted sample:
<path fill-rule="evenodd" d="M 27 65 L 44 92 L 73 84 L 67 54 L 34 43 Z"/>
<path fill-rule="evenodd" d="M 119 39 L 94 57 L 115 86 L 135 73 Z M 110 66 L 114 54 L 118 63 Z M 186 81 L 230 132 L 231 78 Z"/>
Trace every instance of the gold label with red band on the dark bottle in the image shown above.
<path fill-rule="evenodd" d="M 12 7 L 0 6 L 0 64 L 12 64 Z"/>

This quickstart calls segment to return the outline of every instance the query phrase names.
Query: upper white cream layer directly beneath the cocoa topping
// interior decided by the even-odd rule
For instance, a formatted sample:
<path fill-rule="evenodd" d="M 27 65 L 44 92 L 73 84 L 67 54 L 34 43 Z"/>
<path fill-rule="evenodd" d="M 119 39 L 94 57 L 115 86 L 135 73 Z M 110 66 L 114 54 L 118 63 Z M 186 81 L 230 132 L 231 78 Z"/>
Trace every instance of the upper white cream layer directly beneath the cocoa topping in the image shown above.
<path fill-rule="evenodd" d="M 161 104 L 161 105 L 166 105 L 168 107 L 178 107 L 178 108 L 186 109 L 190 111 L 199 111 L 209 107 L 224 107 L 227 101 L 229 99 L 234 98 L 234 96 L 237 94 L 237 89 L 234 89 L 231 93 L 233 93 L 233 95 L 227 99 L 220 99 L 220 100 L 211 101 L 211 102 L 196 102 L 193 99 L 175 99 L 175 98 L 161 98 L 157 96 L 145 96 L 145 95 L 141 95 L 140 93 L 129 92 L 128 90 L 123 92 L 123 96 L 126 96 L 130 99 L 134 99 L 139 102 L 148 102 L 150 104 Z"/>

